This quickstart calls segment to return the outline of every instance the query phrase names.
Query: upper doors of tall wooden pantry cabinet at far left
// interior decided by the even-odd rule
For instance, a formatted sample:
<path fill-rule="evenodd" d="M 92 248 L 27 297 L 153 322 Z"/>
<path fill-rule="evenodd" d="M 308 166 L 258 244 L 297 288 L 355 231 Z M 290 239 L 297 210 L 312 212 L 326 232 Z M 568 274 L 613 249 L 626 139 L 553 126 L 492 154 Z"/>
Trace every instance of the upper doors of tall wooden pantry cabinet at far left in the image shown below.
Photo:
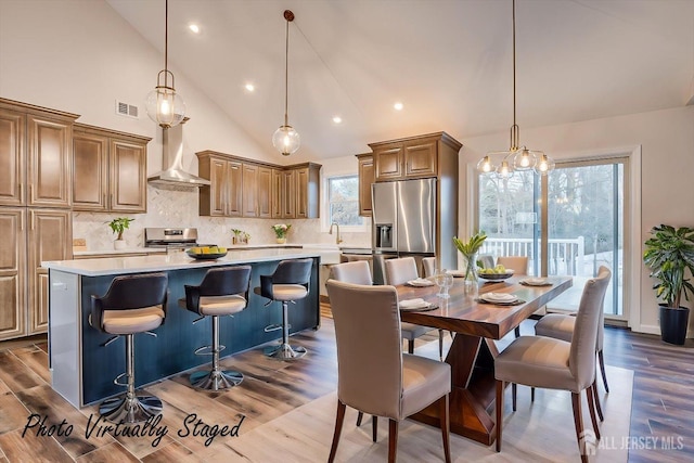
<path fill-rule="evenodd" d="M 0 99 L 0 205 L 70 207 L 77 117 Z"/>

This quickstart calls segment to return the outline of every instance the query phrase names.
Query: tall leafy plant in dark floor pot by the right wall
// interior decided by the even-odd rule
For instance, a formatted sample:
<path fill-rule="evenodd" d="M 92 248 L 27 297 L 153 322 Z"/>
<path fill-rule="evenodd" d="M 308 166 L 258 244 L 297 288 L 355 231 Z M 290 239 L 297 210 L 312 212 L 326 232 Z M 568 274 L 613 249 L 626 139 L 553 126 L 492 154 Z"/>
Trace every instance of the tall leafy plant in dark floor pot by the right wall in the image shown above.
<path fill-rule="evenodd" d="M 653 288 L 660 304 L 660 336 L 669 344 L 684 344 L 690 309 L 680 306 L 682 295 L 689 300 L 694 286 L 685 278 L 694 269 L 694 229 L 660 224 L 651 230 L 645 242 L 643 261 L 655 279 Z"/>

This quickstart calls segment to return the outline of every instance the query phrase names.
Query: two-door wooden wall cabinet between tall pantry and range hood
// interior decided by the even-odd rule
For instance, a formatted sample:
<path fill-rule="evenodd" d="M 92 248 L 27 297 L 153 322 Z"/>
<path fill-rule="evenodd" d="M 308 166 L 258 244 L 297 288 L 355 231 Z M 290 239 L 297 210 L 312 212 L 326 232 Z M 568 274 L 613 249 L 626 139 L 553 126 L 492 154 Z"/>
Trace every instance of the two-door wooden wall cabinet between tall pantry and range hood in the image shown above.
<path fill-rule="evenodd" d="M 73 209 L 145 213 L 146 145 L 150 140 L 75 124 Z"/>

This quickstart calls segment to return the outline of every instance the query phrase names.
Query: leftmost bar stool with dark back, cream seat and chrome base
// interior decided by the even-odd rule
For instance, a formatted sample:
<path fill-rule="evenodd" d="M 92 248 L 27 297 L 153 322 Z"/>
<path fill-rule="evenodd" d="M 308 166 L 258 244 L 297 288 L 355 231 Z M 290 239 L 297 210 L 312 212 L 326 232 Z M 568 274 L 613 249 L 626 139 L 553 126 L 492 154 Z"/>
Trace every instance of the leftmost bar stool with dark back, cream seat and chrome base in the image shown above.
<path fill-rule="evenodd" d="M 89 323 L 97 330 L 114 334 L 104 347 L 126 337 L 126 372 L 114 384 L 127 387 L 126 394 L 106 399 L 99 413 L 113 423 L 141 423 L 162 413 L 162 400 L 154 396 L 136 395 L 134 344 L 136 333 L 156 337 L 154 330 L 166 319 L 168 279 L 165 273 L 116 276 L 104 296 L 91 296 Z M 127 383 L 120 383 L 123 377 Z"/>

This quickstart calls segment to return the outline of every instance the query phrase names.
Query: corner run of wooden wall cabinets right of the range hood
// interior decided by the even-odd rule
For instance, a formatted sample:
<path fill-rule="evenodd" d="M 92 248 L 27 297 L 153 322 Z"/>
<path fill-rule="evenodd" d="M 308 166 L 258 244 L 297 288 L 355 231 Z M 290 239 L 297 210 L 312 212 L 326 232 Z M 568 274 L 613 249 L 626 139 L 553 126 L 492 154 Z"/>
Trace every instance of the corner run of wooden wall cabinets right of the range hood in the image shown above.
<path fill-rule="evenodd" d="M 275 166 L 213 151 L 197 153 L 201 216 L 317 218 L 319 164 Z"/>

